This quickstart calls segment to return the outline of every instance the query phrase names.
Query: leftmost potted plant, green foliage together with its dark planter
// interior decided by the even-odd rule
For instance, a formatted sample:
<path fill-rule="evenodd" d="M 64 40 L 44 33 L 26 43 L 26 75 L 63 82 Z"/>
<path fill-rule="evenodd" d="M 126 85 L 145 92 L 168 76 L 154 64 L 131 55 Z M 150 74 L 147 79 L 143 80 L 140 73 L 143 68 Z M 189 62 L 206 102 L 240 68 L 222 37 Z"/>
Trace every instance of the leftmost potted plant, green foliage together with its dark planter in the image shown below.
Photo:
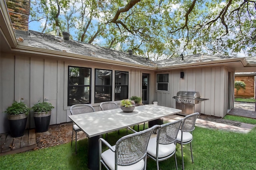
<path fill-rule="evenodd" d="M 12 137 L 21 137 L 24 135 L 26 128 L 29 107 L 24 102 L 16 102 L 7 107 L 7 119 L 9 121 L 10 133 Z"/>

